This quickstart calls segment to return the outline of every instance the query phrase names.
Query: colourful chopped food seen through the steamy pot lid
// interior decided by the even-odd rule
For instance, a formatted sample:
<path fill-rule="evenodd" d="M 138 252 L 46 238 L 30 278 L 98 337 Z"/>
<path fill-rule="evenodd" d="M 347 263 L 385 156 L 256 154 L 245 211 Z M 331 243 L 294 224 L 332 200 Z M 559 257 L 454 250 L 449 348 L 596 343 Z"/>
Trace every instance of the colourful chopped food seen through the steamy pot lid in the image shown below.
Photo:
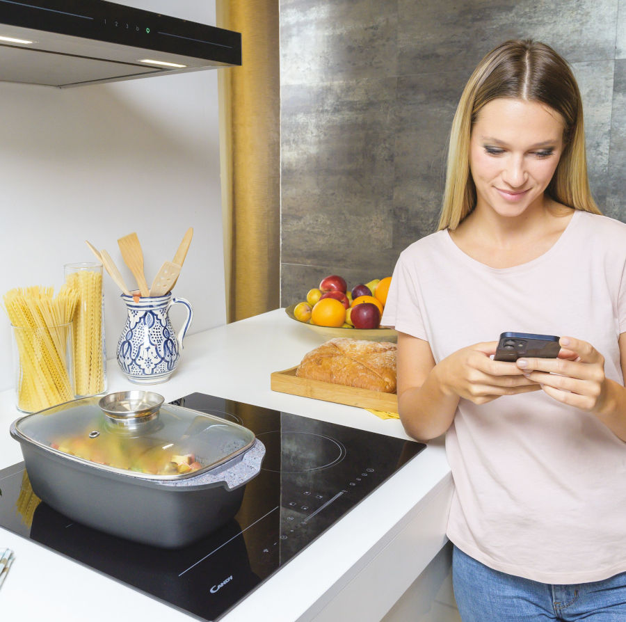
<path fill-rule="evenodd" d="M 150 475 L 180 475 L 204 466 L 193 453 L 151 438 L 101 435 L 98 431 L 87 430 L 80 435 L 54 438 L 49 445 L 96 464 Z"/>

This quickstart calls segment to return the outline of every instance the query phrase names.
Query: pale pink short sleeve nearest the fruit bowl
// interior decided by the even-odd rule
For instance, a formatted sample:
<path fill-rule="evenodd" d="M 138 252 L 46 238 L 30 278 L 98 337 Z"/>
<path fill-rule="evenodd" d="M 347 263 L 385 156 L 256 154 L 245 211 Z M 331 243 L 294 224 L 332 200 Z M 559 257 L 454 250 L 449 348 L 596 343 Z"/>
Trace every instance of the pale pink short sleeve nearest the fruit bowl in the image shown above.
<path fill-rule="evenodd" d="M 428 341 L 415 262 L 405 250 L 399 257 L 380 324 Z"/>

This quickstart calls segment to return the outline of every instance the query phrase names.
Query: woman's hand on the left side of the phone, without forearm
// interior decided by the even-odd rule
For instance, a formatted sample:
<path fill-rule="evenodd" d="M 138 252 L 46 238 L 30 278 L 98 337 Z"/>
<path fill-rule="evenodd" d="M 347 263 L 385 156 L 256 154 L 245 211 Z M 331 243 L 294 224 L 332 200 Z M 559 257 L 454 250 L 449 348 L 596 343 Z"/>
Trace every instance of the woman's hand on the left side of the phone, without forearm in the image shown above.
<path fill-rule="evenodd" d="M 540 390 L 514 362 L 493 360 L 497 342 L 483 342 L 457 350 L 442 359 L 433 371 L 442 391 L 486 404 L 502 395 Z"/>

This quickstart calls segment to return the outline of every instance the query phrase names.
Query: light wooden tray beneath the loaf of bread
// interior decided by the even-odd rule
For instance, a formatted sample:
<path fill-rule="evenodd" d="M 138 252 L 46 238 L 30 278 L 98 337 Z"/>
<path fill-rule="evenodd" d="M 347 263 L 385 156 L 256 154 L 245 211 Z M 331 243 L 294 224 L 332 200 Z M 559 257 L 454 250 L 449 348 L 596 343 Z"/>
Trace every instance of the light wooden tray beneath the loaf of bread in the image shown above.
<path fill-rule="evenodd" d="M 284 372 L 273 372 L 271 374 L 271 389 L 280 393 L 334 401 L 337 404 L 347 404 L 359 408 L 385 410 L 388 413 L 398 412 L 398 396 L 395 393 L 355 389 L 330 382 L 298 378 L 296 369 L 298 369 L 298 365 L 291 367 L 291 369 L 285 369 Z"/>

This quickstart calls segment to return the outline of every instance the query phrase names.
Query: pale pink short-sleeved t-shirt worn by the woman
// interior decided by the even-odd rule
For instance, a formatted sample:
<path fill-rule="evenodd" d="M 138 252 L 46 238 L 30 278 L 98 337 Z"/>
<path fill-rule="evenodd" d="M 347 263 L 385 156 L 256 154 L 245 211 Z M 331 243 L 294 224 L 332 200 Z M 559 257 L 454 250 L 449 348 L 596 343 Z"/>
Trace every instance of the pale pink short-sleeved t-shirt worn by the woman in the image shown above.
<path fill-rule="evenodd" d="M 401 253 L 383 314 L 435 361 L 500 333 L 569 335 L 623 384 L 626 225 L 575 212 L 547 253 L 505 269 L 463 253 L 447 230 Z M 455 493 L 447 534 L 496 570 L 553 583 L 626 571 L 626 443 L 593 415 L 536 391 L 476 406 L 446 434 Z"/>

